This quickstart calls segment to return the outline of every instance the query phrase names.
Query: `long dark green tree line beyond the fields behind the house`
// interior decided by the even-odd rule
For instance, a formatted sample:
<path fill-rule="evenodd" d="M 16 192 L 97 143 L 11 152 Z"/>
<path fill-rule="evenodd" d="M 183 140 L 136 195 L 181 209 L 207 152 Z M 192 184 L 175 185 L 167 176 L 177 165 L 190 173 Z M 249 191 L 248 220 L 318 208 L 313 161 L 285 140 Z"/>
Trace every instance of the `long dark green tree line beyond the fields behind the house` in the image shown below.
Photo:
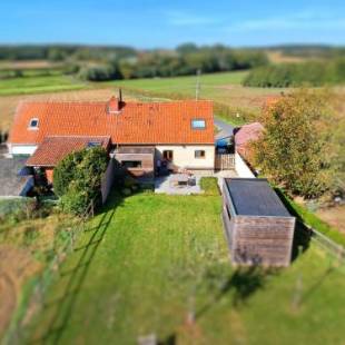
<path fill-rule="evenodd" d="M 221 45 L 198 47 L 193 43 L 174 50 L 144 51 L 128 47 L 2 46 L 0 59 L 63 62 L 63 72 L 76 73 L 90 81 L 188 76 L 198 70 L 209 73 L 268 63 L 266 53 L 260 50 L 231 49 Z"/>

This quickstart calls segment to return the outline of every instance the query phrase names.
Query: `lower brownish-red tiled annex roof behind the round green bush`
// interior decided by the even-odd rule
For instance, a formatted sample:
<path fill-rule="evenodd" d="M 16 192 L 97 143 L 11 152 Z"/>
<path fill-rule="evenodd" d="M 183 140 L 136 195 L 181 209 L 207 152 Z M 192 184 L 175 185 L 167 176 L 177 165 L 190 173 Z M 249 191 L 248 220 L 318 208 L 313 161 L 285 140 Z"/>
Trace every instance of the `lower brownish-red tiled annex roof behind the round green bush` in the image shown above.
<path fill-rule="evenodd" d="M 47 137 L 26 165 L 29 167 L 55 167 L 68 154 L 86 148 L 89 142 L 99 142 L 107 149 L 110 137 Z"/>

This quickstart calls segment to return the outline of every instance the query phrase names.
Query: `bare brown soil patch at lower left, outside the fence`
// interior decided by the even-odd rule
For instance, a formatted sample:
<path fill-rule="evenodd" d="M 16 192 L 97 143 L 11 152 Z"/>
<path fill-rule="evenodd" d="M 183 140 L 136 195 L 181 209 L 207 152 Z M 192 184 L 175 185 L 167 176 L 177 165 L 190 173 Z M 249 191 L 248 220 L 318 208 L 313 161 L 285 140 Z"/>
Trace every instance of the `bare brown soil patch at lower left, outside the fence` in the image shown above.
<path fill-rule="evenodd" d="M 40 269 L 28 250 L 0 246 L 0 338 L 16 309 L 20 289 Z"/>

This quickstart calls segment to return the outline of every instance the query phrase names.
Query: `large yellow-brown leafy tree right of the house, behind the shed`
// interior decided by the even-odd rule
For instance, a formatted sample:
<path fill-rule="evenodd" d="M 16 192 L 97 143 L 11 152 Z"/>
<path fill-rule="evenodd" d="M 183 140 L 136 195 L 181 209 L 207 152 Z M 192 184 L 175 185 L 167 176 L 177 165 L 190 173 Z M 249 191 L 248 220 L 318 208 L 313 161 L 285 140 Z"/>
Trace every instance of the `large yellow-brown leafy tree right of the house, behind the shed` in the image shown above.
<path fill-rule="evenodd" d="M 326 92 L 307 90 L 268 106 L 264 135 L 253 144 L 256 165 L 293 194 L 321 196 L 331 186 L 329 111 Z"/>

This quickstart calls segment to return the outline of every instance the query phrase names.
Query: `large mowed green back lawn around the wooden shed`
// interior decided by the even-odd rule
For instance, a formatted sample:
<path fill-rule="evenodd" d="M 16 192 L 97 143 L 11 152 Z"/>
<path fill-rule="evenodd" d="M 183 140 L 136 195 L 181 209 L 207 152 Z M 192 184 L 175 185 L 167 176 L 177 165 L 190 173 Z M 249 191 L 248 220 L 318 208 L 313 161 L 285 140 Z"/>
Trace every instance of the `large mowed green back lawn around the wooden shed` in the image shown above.
<path fill-rule="evenodd" d="M 312 245 L 286 269 L 231 268 L 220 203 L 114 195 L 65 262 L 30 341 L 342 344 L 344 267 Z"/>

